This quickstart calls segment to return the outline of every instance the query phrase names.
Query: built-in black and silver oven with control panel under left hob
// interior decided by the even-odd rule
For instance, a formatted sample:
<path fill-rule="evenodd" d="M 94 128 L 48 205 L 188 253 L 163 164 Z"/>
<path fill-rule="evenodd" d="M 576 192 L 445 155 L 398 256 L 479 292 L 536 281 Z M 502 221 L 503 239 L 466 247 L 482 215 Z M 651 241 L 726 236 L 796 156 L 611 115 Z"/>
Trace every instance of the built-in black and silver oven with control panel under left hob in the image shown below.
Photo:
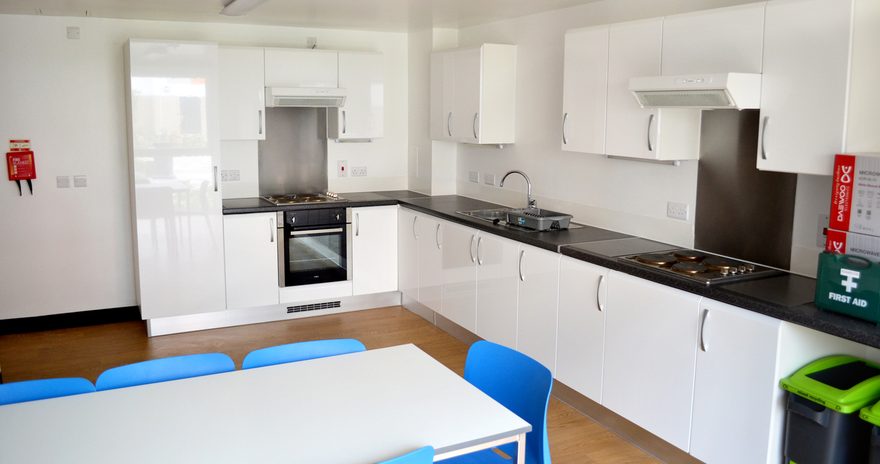
<path fill-rule="evenodd" d="M 282 287 L 351 278 L 351 219 L 347 208 L 278 213 L 278 283 Z"/>

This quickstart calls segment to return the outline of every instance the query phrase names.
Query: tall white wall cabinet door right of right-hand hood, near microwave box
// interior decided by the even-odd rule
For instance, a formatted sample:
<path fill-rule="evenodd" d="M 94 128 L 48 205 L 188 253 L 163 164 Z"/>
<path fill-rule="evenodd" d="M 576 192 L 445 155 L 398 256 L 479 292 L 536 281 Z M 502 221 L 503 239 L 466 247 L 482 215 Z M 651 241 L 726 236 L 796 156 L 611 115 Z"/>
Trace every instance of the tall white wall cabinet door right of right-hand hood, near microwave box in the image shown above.
<path fill-rule="evenodd" d="M 758 169 L 831 175 L 844 147 L 852 2 L 767 3 Z"/>

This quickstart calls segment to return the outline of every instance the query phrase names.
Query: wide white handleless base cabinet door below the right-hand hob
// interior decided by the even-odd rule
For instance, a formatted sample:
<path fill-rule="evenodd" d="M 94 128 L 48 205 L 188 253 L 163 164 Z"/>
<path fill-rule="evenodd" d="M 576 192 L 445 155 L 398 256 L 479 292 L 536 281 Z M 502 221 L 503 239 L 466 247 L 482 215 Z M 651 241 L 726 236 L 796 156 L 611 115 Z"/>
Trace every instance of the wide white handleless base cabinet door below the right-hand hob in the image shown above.
<path fill-rule="evenodd" d="M 700 298 L 619 272 L 608 276 L 602 404 L 687 450 Z"/>

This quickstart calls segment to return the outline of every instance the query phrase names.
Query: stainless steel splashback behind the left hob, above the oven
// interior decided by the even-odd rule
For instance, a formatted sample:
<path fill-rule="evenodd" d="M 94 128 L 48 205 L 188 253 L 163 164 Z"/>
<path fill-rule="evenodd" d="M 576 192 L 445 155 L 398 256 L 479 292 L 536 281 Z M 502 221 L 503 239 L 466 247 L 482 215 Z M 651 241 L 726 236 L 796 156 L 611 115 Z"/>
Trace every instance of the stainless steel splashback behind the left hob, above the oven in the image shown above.
<path fill-rule="evenodd" d="M 260 195 L 327 191 L 327 110 L 266 108 Z"/>

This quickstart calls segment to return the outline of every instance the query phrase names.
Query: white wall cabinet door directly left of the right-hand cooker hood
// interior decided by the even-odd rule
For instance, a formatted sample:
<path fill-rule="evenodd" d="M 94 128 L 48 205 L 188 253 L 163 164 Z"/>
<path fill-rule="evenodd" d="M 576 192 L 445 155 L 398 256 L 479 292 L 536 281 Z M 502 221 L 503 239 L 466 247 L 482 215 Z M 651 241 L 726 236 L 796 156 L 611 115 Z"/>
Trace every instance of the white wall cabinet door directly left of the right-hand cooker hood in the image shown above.
<path fill-rule="evenodd" d="M 629 90 L 629 80 L 660 74 L 662 18 L 610 26 L 608 42 L 608 114 L 606 153 L 655 158 L 653 131 L 657 114 L 643 109 Z"/>

